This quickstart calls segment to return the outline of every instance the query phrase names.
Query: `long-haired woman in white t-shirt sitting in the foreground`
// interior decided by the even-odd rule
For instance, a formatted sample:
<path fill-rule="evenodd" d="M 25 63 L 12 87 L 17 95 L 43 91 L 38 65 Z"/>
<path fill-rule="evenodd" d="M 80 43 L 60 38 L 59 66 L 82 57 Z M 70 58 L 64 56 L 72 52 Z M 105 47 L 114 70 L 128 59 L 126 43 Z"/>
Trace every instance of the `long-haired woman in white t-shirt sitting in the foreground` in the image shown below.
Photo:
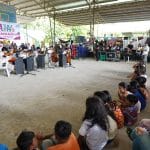
<path fill-rule="evenodd" d="M 81 150 L 102 150 L 108 141 L 109 122 L 103 102 L 97 97 L 86 100 L 86 111 L 79 129 Z"/>

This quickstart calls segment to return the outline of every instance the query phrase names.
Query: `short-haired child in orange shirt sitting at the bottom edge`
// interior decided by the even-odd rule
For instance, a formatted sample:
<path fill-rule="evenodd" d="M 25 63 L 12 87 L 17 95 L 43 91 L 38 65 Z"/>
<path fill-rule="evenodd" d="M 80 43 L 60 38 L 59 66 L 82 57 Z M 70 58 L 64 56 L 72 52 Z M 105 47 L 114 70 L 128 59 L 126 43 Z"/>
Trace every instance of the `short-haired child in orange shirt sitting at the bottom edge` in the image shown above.
<path fill-rule="evenodd" d="M 60 120 L 55 124 L 55 133 L 49 138 L 43 137 L 42 150 L 80 150 L 78 142 L 72 133 L 69 122 Z"/>

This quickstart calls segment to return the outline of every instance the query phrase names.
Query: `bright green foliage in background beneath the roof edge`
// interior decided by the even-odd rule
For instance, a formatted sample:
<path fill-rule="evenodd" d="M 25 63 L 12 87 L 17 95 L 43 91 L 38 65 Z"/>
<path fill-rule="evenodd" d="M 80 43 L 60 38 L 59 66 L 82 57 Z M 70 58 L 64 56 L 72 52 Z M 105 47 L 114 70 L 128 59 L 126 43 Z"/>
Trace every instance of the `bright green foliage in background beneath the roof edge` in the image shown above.
<path fill-rule="evenodd" d="M 45 43 L 51 43 L 52 38 L 54 36 L 54 20 L 51 19 L 51 29 L 50 29 L 50 21 L 48 17 L 43 18 L 37 18 L 34 22 L 31 22 L 28 24 L 28 29 L 32 30 L 40 30 L 45 33 L 45 39 L 43 41 Z M 88 26 L 65 26 L 59 22 L 56 21 L 55 23 L 55 35 L 56 35 L 56 41 L 58 41 L 59 38 L 63 40 L 68 40 L 71 37 L 75 39 L 76 36 L 87 36 L 87 33 L 89 32 Z M 51 37 L 52 33 L 52 37 Z"/>

